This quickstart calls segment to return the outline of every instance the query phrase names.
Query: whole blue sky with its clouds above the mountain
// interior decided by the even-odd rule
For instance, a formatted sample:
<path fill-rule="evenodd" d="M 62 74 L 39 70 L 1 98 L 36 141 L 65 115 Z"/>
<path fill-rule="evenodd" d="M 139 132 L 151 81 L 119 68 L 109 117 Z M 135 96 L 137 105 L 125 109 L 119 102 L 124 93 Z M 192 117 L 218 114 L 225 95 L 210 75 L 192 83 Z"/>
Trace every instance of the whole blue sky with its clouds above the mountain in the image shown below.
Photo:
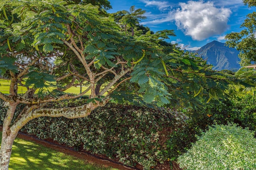
<path fill-rule="evenodd" d="M 152 31 L 173 29 L 176 37 L 166 40 L 187 50 L 197 50 L 214 40 L 224 43 L 225 35 L 240 32 L 246 15 L 256 11 L 242 0 L 109 0 L 113 13 L 131 6 L 146 10 L 140 23 Z"/>

